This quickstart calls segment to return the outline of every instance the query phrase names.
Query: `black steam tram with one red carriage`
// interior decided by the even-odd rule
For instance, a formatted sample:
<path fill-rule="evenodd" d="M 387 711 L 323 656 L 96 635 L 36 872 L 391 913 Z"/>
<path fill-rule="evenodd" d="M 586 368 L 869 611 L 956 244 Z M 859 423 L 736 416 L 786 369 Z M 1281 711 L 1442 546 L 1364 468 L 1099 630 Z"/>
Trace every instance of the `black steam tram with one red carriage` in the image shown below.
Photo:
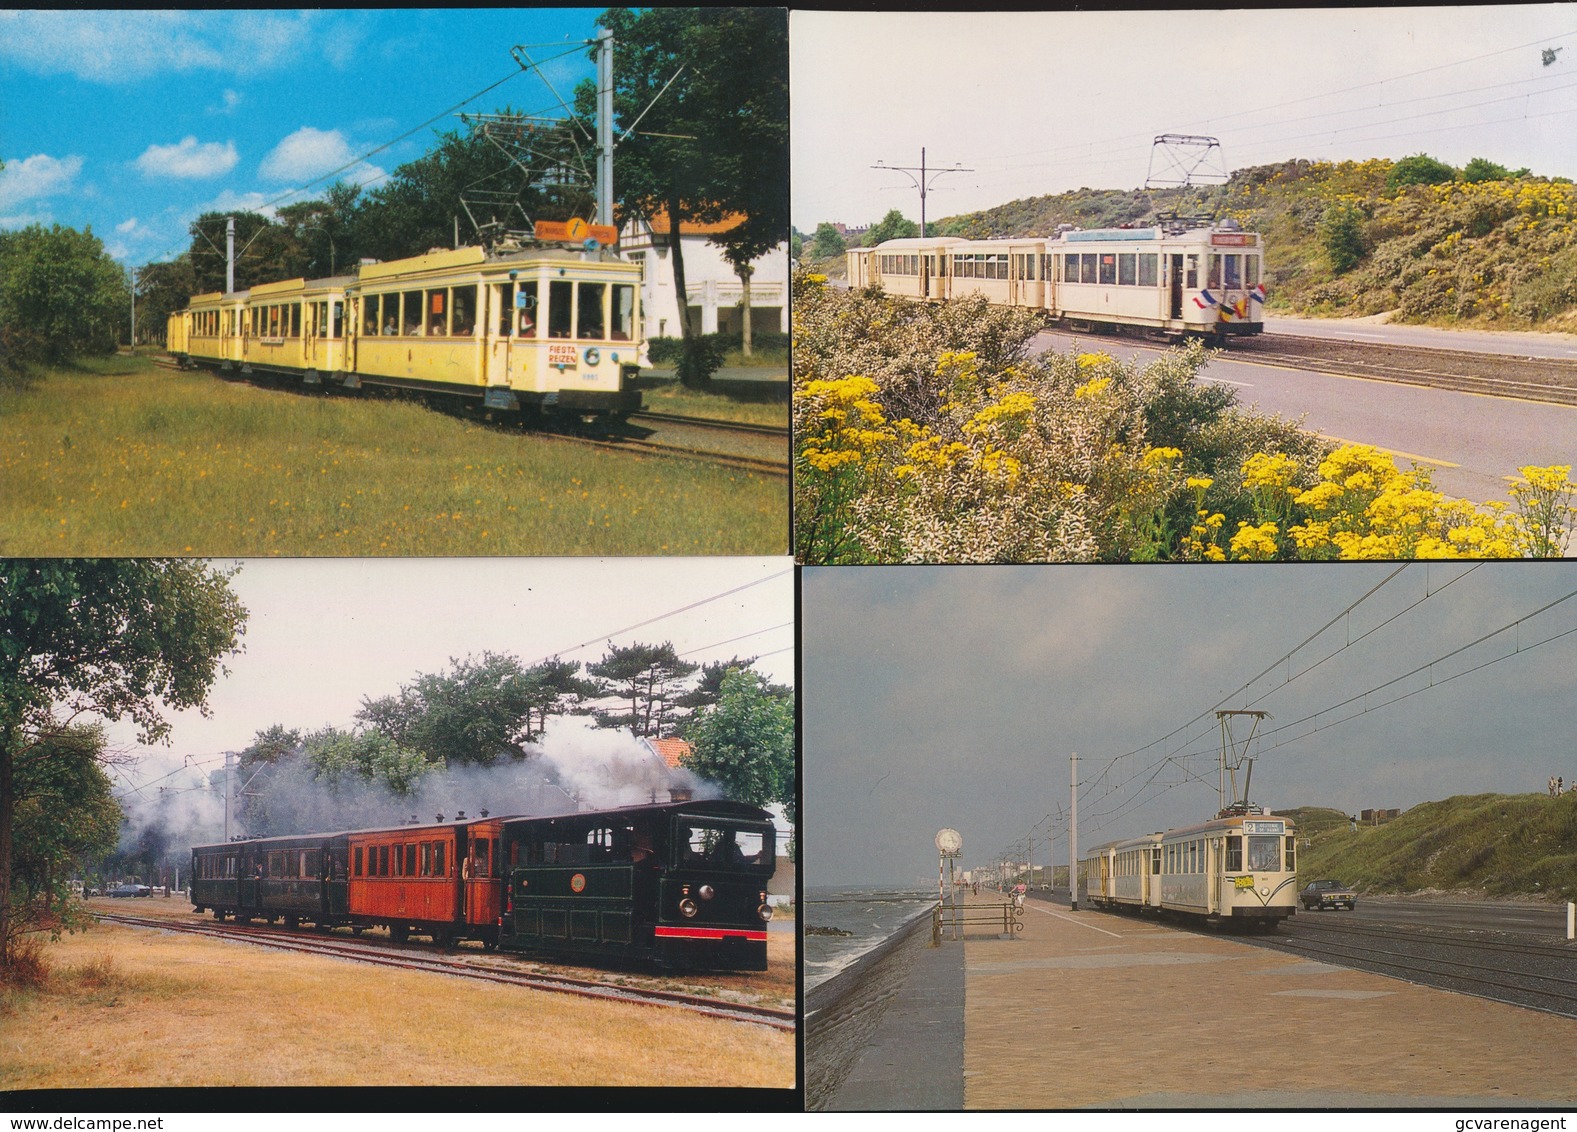
<path fill-rule="evenodd" d="M 771 815 L 711 801 L 199 845 L 191 875 L 214 919 L 765 971 L 774 864 Z"/>

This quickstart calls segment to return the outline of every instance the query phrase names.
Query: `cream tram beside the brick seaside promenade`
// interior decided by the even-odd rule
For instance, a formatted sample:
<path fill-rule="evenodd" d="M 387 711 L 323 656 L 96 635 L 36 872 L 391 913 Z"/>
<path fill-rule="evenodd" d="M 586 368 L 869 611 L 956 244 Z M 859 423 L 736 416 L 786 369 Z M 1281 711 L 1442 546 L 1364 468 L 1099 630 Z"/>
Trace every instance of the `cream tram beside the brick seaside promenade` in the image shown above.
<path fill-rule="evenodd" d="M 1274 929 L 1298 910 L 1293 825 L 1268 815 L 1217 817 L 1090 850 L 1087 899 L 1098 908 L 1167 913 Z"/>

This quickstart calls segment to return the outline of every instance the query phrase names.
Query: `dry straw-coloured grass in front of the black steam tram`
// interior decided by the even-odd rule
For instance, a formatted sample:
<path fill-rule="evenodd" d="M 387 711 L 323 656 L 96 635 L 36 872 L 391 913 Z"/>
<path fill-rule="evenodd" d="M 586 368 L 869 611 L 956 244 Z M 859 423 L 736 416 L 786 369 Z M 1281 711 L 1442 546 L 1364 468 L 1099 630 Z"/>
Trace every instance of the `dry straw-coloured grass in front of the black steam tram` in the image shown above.
<path fill-rule="evenodd" d="M 795 1083 L 793 1034 L 678 1011 L 112 924 L 46 955 L 0 998 L 0 1089 Z"/>

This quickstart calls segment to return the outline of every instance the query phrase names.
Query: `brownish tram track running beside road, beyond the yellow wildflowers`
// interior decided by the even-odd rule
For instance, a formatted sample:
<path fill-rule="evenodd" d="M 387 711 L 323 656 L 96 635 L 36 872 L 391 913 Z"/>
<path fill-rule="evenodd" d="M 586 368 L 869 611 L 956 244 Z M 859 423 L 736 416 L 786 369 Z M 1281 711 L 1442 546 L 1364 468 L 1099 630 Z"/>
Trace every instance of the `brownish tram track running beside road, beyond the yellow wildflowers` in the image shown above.
<path fill-rule="evenodd" d="M 1560 358 L 1340 342 L 1295 334 L 1235 339 L 1227 356 L 1342 377 L 1577 405 L 1577 363 Z"/>

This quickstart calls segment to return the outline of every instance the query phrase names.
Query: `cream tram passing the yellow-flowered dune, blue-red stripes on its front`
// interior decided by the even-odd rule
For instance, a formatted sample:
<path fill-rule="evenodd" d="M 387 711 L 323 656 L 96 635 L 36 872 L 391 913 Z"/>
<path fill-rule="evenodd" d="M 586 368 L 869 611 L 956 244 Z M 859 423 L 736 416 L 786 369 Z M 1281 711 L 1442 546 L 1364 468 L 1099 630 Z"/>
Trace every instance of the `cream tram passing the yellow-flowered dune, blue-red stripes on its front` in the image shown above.
<path fill-rule="evenodd" d="M 848 252 L 850 287 L 900 298 L 984 296 L 1074 331 L 1227 337 L 1265 330 L 1263 244 L 1235 221 L 1066 229 L 1019 240 L 888 240 Z"/>

